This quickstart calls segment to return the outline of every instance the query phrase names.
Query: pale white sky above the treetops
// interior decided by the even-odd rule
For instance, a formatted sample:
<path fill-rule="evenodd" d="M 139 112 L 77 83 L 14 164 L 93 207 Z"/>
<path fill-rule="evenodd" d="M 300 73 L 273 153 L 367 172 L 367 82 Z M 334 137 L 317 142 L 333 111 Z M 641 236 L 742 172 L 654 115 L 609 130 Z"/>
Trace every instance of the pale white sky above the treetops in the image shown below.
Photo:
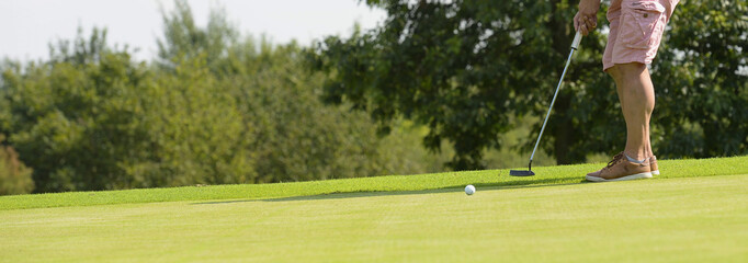
<path fill-rule="evenodd" d="M 296 39 L 308 45 L 326 35 L 349 34 L 381 23 L 386 13 L 359 0 L 188 0 L 200 26 L 211 8 L 223 5 L 228 21 L 245 34 L 265 34 L 273 43 Z M 161 36 L 160 7 L 171 0 L 0 0 L 0 59 L 29 61 L 49 57 L 49 43 L 72 39 L 78 27 L 106 27 L 107 43 L 139 48 L 135 57 L 149 60 Z"/>

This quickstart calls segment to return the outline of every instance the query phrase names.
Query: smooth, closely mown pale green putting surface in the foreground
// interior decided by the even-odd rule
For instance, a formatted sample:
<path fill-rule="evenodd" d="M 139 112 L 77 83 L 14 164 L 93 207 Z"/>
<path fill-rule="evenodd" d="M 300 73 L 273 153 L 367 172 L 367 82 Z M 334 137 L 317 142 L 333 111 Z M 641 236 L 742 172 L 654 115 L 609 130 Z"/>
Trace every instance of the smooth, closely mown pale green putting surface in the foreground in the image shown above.
<path fill-rule="evenodd" d="M 748 175 L 0 210 L 0 262 L 746 262 Z"/>

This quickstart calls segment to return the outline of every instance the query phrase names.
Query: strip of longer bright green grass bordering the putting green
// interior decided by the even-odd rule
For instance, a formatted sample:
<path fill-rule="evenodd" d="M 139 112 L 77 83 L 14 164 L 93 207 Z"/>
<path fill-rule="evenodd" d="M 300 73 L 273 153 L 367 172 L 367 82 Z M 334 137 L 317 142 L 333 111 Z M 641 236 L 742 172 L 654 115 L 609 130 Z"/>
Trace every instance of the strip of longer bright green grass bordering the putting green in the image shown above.
<path fill-rule="evenodd" d="M 748 156 L 699 160 L 660 160 L 658 179 L 748 174 Z M 72 192 L 55 194 L 0 196 L 0 210 L 113 205 L 203 199 L 260 199 L 308 196 L 332 193 L 422 191 L 476 186 L 531 186 L 582 182 L 582 175 L 604 163 L 539 167 L 536 176 L 511 178 L 508 170 L 452 172 L 420 175 L 393 175 L 363 179 L 329 180 L 279 184 L 189 186 L 173 188 Z"/>

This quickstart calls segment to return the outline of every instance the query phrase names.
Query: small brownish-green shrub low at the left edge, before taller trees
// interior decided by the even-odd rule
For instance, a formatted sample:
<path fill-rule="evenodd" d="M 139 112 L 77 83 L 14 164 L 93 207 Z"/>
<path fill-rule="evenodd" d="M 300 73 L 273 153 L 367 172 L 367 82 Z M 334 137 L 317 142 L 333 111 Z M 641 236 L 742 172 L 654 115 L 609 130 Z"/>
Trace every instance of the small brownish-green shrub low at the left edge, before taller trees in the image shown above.
<path fill-rule="evenodd" d="M 32 170 L 19 160 L 12 147 L 4 146 L 5 136 L 0 134 L 0 195 L 27 194 L 34 190 Z"/>

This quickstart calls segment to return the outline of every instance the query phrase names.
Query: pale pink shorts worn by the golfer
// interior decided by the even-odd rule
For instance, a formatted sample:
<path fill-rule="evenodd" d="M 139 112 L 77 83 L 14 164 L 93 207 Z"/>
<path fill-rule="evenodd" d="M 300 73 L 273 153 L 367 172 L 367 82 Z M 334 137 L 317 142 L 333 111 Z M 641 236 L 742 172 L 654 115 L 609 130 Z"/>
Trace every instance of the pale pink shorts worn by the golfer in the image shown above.
<path fill-rule="evenodd" d="M 610 34 L 602 69 L 615 64 L 651 64 L 662 32 L 679 0 L 612 0 L 608 10 Z"/>

